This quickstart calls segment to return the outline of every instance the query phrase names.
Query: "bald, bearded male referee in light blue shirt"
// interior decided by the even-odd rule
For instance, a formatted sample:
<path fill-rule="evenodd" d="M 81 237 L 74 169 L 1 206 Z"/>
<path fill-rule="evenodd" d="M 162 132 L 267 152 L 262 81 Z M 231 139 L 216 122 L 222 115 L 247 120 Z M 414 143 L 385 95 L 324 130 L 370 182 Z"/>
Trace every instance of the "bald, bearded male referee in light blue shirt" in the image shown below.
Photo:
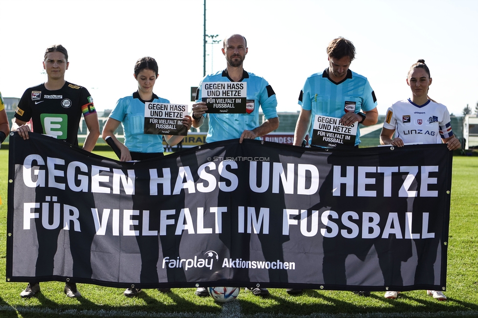
<path fill-rule="evenodd" d="M 253 73 L 246 72 L 242 67 L 242 62 L 247 54 L 247 41 L 239 34 L 234 34 L 224 39 L 222 54 L 224 54 L 227 67 L 223 71 L 207 75 L 202 82 L 242 82 L 247 83 L 247 104 L 248 108 L 245 114 L 209 114 L 209 130 L 206 142 L 222 141 L 239 138 L 239 143 L 243 139 L 256 139 L 264 136 L 279 127 L 279 117 L 277 116 L 277 99 L 272 87 L 265 79 Z M 201 82 L 201 84 L 202 84 Z M 201 85 L 196 93 L 197 103 L 192 105 L 192 126 L 198 128 L 206 118 L 208 107 L 205 102 L 201 102 Z M 263 110 L 265 121 L 259 125 L 259 106 Z M 228 235 L 229 239 L 231 235 Z M 249 237 L 239 235 L 238 239 L 248 242 Z M 222 238 L 221 238 L 222 240 Z M 271 248 L 261 238 L 261 245 L 265 252 L 275 252 L 274 255 L 282 255 L 282 246 L 275 244 Z M 226 244 L 226 243 L 225 243 Z M 230 243 L 227 243 L 230 244 Z M 226 244 L 226 245 L 227 245 Z M 282 256 L 279 256 L 279 258 Z M 232 257 L 233 259 L 235 257 Z M 267 259 L 267 257 L 266 257 Z M 278 272 L 278 271 L 276 271 Z M 287 272 L 285 273 L 287 275 Z M 277 274 L 278 276 L 280 273 Z M 254 295 L 265 296 L 269 294 L 266 288 L 251 287 Z M 196 295 L 208 296 L 204 287 L 196 289 Z"/>

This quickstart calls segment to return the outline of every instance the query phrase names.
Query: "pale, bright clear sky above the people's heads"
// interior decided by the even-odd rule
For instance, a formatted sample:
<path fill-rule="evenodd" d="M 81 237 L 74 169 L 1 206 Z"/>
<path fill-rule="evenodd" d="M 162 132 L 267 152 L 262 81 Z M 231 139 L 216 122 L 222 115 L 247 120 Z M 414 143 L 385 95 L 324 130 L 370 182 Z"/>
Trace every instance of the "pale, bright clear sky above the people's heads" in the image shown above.
<path fill-rule="evenodd" d="M 51 44 L 68 49 L 66 80 L 86 87 L 97 110 L 137 89 L 136 60 L 154 57 L 154 92 L 189 104 L 203 77 L 204 0 L 0 0 L 0 91 L 21 97 L 45 81 Z M 450 113 L 478 102 L 477 0 L 207 0 L 206 33 L 240 33 L 244 69 L 276 92 L 278 111 L 297 112 L 308 76 L 327 66 L 328 43 L 343 36 L 357 49 L 350 69 L 366 76 L 378 110 L 410 96 L 409 67 L 425 59 L 430 97 Z M 207 44 L 206 71 L 225 68 L 222 44 Z M 211 63 L 212 62 L 212 63 Z"/>

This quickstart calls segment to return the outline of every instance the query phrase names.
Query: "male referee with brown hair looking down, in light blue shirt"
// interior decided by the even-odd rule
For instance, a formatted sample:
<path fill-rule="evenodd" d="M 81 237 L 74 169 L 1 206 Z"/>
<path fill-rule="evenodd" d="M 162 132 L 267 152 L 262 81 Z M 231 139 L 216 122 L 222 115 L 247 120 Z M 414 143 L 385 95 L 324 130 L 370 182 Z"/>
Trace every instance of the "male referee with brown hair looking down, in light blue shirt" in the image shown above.
<path fill-rule="evenodd" d="M 322 73 L 309 76 L 300 91 L 301 111 L 294 133 L 294 145 L 300 146 L 307 133 L 312 141 L 315 115 L 340 118 L 344 126 L 355 122 L 364 126 L 377 123 L 377 98 L 366 77 L 349 69 L 355 58 L 355 46 L 342 37 L 332 40 L 327 47 L 329 67 Z M 347 103 L 346 103 L 347 102 Z M 353 105 L 352 111 L 345 111 L 345 105 Z M 350 106 L 349 106 L 350 107 Z M 309 131 L 310 129 L 310 131 Z M 355 146 L 360 143 L 357 129 Z"/>

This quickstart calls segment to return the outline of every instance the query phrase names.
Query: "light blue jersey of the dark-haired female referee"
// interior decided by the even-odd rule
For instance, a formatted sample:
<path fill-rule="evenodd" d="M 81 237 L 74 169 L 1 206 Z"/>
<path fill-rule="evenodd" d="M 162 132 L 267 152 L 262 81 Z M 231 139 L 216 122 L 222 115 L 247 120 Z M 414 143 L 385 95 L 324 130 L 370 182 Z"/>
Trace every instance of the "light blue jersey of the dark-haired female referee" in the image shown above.
<path fill-rule="evenodd" d="M 153 94 L 152 101 L 144 101 L 138 91 L 120 98 L 109 117 L 121 122 L 124 131 L 124 145 L 129 151 L 141 153 L 164 152 L 163 135 L 144 134 L 144 103 L 165 103 L 169 101 Z"/>

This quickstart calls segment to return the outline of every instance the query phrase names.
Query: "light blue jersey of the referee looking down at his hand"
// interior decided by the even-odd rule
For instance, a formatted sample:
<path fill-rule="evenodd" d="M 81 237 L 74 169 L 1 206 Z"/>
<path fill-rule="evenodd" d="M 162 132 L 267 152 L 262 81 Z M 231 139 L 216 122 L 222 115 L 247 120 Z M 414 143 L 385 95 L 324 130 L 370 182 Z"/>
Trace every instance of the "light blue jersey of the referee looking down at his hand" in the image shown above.
<path fill-rule="evenodd" d="M 306 80 L 299 95 L 299 105 L 306 111 L 312 111 L 312 125 L 309 142 L 312 141 L 313 120 L 315 115 L 341 118 L 345 114 L 345 105 L 355 103 L 355 113 L 365 112 L 377 107 L 377 98 L 367 78 L 350 69 L 345 79 L 333 82 L 328 68 L 323 73 L 316 73 Z M 360 130 L 357 129 L 355 145 L 360 143 Z"/>

